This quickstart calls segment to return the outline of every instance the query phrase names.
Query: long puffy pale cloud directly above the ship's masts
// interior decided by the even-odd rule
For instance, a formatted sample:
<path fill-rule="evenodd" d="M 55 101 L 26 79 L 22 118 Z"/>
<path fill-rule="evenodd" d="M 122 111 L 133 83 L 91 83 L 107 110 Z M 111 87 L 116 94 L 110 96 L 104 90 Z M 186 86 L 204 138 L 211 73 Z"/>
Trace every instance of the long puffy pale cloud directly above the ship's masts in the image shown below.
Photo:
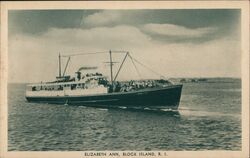
<path fill-rule="evenodd" d="M 95 27 L 90 29 L 53 28 L 42 38 L 57 41 L 62 46 L 100 47 L 105 49 L 140 47 L 150 41 L 150 36 L 133 26 Z"/>

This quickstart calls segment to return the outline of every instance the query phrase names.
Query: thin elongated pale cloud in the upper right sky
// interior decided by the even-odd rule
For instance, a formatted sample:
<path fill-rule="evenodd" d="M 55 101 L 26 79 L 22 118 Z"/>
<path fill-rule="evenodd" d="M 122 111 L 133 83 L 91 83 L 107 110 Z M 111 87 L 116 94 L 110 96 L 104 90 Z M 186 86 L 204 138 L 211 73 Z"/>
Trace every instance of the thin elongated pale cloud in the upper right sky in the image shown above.
<path fill-rule="evenodd" d="M 143 27 L 144 31 L 164 35 L 164 36 L 179 36 L 179 37 L 189 37 L 189 38 L 198 38 L 204 35 L 213 33 L 216 31 L 213 27 L 206 28 L 195 28 L 190 29 L 184 26 L 173 25 L 173 24 L 145 24 Z"/>

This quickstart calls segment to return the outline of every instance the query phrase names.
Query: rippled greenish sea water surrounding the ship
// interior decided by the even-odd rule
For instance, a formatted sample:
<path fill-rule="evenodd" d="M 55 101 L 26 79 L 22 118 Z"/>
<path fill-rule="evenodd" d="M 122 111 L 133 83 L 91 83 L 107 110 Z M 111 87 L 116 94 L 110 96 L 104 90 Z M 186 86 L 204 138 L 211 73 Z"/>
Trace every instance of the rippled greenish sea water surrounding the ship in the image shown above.
<path fill-rule="evenodd" d="M 239 79 L 184 83 L 178 112 L 28 103 L 8 85 L 9 151 L 241 150 Z"/>

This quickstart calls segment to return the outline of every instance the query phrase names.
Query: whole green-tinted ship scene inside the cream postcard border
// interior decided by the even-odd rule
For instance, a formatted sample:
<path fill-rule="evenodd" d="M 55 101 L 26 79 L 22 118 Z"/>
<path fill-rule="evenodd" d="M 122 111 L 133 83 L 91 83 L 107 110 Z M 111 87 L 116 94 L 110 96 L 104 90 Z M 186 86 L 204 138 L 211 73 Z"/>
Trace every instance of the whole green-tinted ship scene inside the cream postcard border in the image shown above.
<path fill-rule="evenodd" d="M 7 14 L 9 152 L 242 151 L 241 9 Z"/>

